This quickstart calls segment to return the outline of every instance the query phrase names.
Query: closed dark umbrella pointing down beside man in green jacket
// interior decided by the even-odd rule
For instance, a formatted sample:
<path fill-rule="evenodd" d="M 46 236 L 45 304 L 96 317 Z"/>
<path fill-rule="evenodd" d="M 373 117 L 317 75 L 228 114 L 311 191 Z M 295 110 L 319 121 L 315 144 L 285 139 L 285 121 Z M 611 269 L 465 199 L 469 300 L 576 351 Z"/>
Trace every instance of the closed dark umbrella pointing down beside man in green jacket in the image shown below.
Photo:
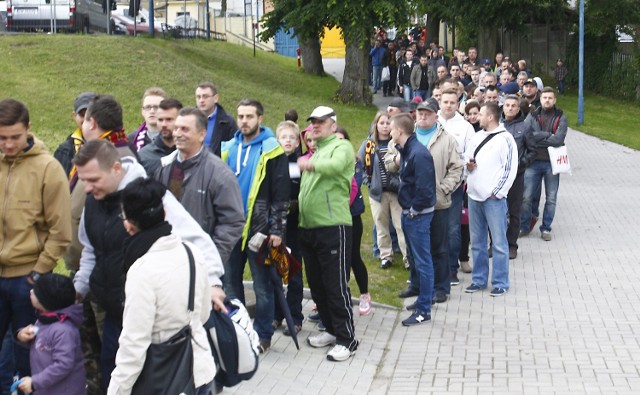
<path fill-rule="evenodd" d="M 288 284 L 289 278 L 293 277 L 298 271 L 300 271 L 302 266 L 300 265 L 300 262 L 291 255 L 284 244 L 280 244 L 278 247 L 273 247 L 269 242 L 269 239 L 266 239 L 262 243 L 262 246 L 258 251 L 257 262 L 271 267 L 271 283 L 273 284 L 273 288 L 276 290 L 278 304 L 284 314 L 284 319 L 287 322 L 291 338 L 293 339 L 296 348 L 299 350 L 300 345 L 298 344 L 298 332 L 296 331 L 293 318 L 291 317 L 291 310 L 289 310 L 289 305 L 287 304 L 284 291 L 282 290 L 282 282 L 284 281 L 285 284 Z"/>

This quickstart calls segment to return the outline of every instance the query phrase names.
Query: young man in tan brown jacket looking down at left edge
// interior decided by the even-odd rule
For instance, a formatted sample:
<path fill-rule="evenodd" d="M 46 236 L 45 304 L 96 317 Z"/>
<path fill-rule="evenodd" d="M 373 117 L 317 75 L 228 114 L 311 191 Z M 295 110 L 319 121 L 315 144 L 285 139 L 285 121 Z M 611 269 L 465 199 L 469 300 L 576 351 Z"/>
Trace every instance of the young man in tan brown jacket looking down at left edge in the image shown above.
<path fill-rule="evenodd" d="M 67 177 L 30 127 L 24 104 L 0 101 L 0 339 L 36 321 L 32 285 L 71 240 Z M 20 377 L 30 376 L 29 350 L 14 347 L 14 356 Z"/>

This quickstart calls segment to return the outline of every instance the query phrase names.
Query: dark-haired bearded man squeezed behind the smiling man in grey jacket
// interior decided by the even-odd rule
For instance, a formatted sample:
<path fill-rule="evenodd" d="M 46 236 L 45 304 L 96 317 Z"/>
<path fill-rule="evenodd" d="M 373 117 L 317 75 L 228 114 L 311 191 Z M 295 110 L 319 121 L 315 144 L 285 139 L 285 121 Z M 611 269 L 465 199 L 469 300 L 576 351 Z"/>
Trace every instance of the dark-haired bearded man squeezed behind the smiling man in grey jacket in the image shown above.
<path fill-rule="evenodd" d="M 160 134 L 138 152 L 140 164 L 144 166 L 149 177 L 153 177 L 160 168 L 160 159 L 176 150 L 176 143 L 173 141 L 173 128 L 181 109 L 182 103 L 176 99 L 164 99 L 160 102 L 158 108 Z"/>

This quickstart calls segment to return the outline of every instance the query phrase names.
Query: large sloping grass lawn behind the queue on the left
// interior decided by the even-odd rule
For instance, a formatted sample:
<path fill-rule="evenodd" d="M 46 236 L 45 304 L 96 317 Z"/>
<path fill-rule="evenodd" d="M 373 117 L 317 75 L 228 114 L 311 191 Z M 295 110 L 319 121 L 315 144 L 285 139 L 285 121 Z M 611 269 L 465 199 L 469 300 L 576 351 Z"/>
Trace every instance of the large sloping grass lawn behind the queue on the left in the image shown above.
<path fill-rule="evenodd" d="M 221 42 L 16 35 L 3 36 L 0 51 L 4 55 L 0 58 L 2 97 L 27 104 L 31 130 L 51 151 L 74 129 L 73 101 L 83 91 L 114 95 L 123 107 L 127 131 L 142 122 L 142 94 L 151 86 L 162 87 L 185 105 L 195 105 L 195 86 L 211 80 L 218 85 L 220 103 L 229 112 L 234 113 L 236 103 L 243 98 L 260 100 L 266 112 L 264 124 L 274 129 L 290 108 L 298 110 L 302 125 L 313 108 L 329 105 L 350 133 L 354 150 L 367 136 L 376 112 L 372 106 L 333 102 L 338 88 L 335 79 L 301 73 L 293 58 L 264 52 L 254 58 L 251 48 Z M 396 294 L 407 279 L 402 259 L 396 257 L 396 265 L 390 270 L 378 267 L 379 262 L 371 253 L 372 220 L 368 208 L 362 218 L 362 255 L 369 268 L 373 300 L 400 306 Z M 57 271 L 64 272 L 64 265 L 60 264 Z M 351 290 L 355 297 L 359 296 L 353 276 Z"/>

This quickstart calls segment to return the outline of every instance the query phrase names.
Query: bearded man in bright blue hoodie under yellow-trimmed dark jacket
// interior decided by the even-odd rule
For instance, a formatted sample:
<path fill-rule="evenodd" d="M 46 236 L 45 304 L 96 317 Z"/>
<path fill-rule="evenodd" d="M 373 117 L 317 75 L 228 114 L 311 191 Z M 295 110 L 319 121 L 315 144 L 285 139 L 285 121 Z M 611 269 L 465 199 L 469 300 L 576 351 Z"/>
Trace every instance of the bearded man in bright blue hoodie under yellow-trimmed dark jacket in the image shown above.
<path fill-rule="evenodd" d="M 224 284 L 231 297 L 244 303 L 242 278 L 249 261 L 256 294 L 253 327 L 264 353 L 271 347 L 274 331 L 275 288 L 271 268 L 258 263 L 258 252 L 266 244 L 263 241 L 273 247 L 283 243 L 291 185 L 289 160 L 275 134 L 262 125 L 264 109 L 259 101 L 240 101 L 236 113 L 240 129 L 222 144 L 222 159 L 238 179 L 247 222 L 225 265 Z"/>

